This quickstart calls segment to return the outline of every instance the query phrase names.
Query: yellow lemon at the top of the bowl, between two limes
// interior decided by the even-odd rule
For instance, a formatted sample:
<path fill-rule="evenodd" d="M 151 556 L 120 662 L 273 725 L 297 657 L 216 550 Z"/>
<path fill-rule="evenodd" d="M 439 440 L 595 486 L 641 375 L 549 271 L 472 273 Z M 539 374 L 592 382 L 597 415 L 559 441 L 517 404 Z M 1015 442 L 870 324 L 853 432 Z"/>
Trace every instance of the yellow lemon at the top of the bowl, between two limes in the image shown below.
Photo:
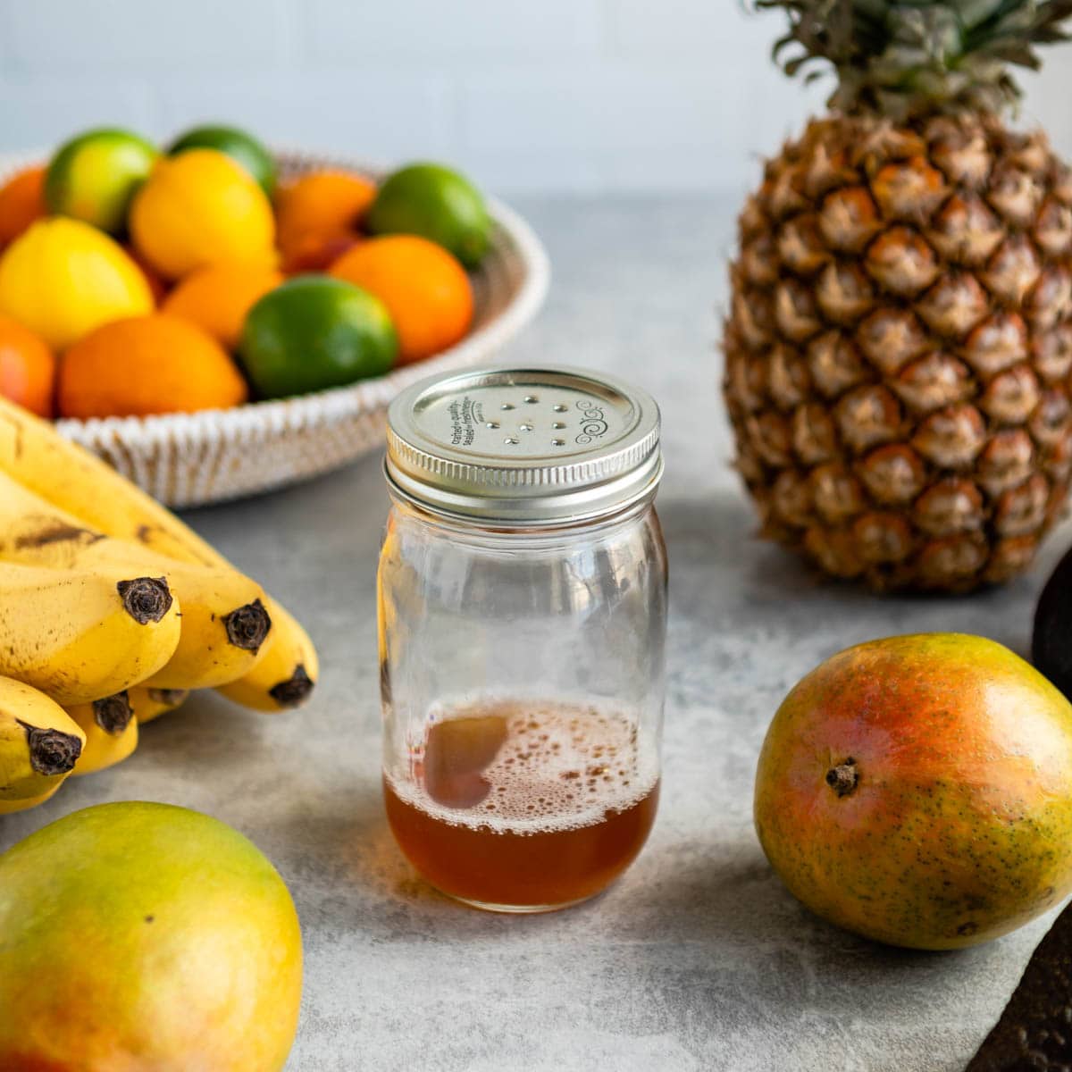
<path fill-rule="evenodd" d="M 265 192 L 215 149 L 161 160 L 134 197 L 138 252 L 168 279 L 218 260 L 270 264 L 276 221 Z"/>

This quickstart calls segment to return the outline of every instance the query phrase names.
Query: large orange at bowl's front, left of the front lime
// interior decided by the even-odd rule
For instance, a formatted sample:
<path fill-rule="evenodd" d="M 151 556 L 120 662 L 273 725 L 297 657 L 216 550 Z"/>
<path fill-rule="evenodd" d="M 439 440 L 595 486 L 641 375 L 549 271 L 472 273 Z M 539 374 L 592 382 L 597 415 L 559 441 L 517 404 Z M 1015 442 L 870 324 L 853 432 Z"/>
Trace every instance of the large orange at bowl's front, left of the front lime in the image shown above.
<path fill-rule="evenodd" d="M 64 417 L 222 410 L 244 402 L 248 393 L 235 362 L 211 336 L 166 313 L 105 324 L 60 361 Z"/>

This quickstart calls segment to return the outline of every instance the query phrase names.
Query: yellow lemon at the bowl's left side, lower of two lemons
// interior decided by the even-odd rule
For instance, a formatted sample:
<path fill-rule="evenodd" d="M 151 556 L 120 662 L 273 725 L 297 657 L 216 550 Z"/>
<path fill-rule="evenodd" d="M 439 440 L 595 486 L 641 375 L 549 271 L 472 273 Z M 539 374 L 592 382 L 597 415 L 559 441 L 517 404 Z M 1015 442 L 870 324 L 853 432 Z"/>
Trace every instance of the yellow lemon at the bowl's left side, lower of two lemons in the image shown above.
<path fill-rule="evenodd" d="M 152 309 L 142 269 L 117 242 L 80 220 L 39 220 L 0 257 L 0 313 L 53 349 Z"/>

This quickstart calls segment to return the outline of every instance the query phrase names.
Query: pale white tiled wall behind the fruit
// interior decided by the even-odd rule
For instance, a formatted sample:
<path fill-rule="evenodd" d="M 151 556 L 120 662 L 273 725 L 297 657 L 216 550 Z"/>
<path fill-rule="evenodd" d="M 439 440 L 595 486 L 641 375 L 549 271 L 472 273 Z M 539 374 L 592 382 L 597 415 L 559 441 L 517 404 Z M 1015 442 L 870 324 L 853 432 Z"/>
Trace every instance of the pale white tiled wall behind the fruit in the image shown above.
<path fill-rule="evenodd" d="M 739 0 L 0 0 L 0 149 L 87 125 L 229 120 L 489 189 L 738 192 L 825 87 Z M 1072 155 L 1072 50 L 1026 119 Z"/>

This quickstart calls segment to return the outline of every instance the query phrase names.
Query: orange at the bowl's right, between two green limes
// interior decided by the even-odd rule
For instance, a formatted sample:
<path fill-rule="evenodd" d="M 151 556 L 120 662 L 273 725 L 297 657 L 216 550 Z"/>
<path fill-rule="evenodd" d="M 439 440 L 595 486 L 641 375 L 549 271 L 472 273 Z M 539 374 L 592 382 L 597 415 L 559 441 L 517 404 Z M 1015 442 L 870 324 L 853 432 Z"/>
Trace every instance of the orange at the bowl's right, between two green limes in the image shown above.
<path fill-rule="evenodd" d="M 427 238 L 371 238 L 344 253 L 330 271 L 387 307 L 399 336 L 399 363 L 446 349 L 473 323 L 473 287 L 465 269 Z"/>

